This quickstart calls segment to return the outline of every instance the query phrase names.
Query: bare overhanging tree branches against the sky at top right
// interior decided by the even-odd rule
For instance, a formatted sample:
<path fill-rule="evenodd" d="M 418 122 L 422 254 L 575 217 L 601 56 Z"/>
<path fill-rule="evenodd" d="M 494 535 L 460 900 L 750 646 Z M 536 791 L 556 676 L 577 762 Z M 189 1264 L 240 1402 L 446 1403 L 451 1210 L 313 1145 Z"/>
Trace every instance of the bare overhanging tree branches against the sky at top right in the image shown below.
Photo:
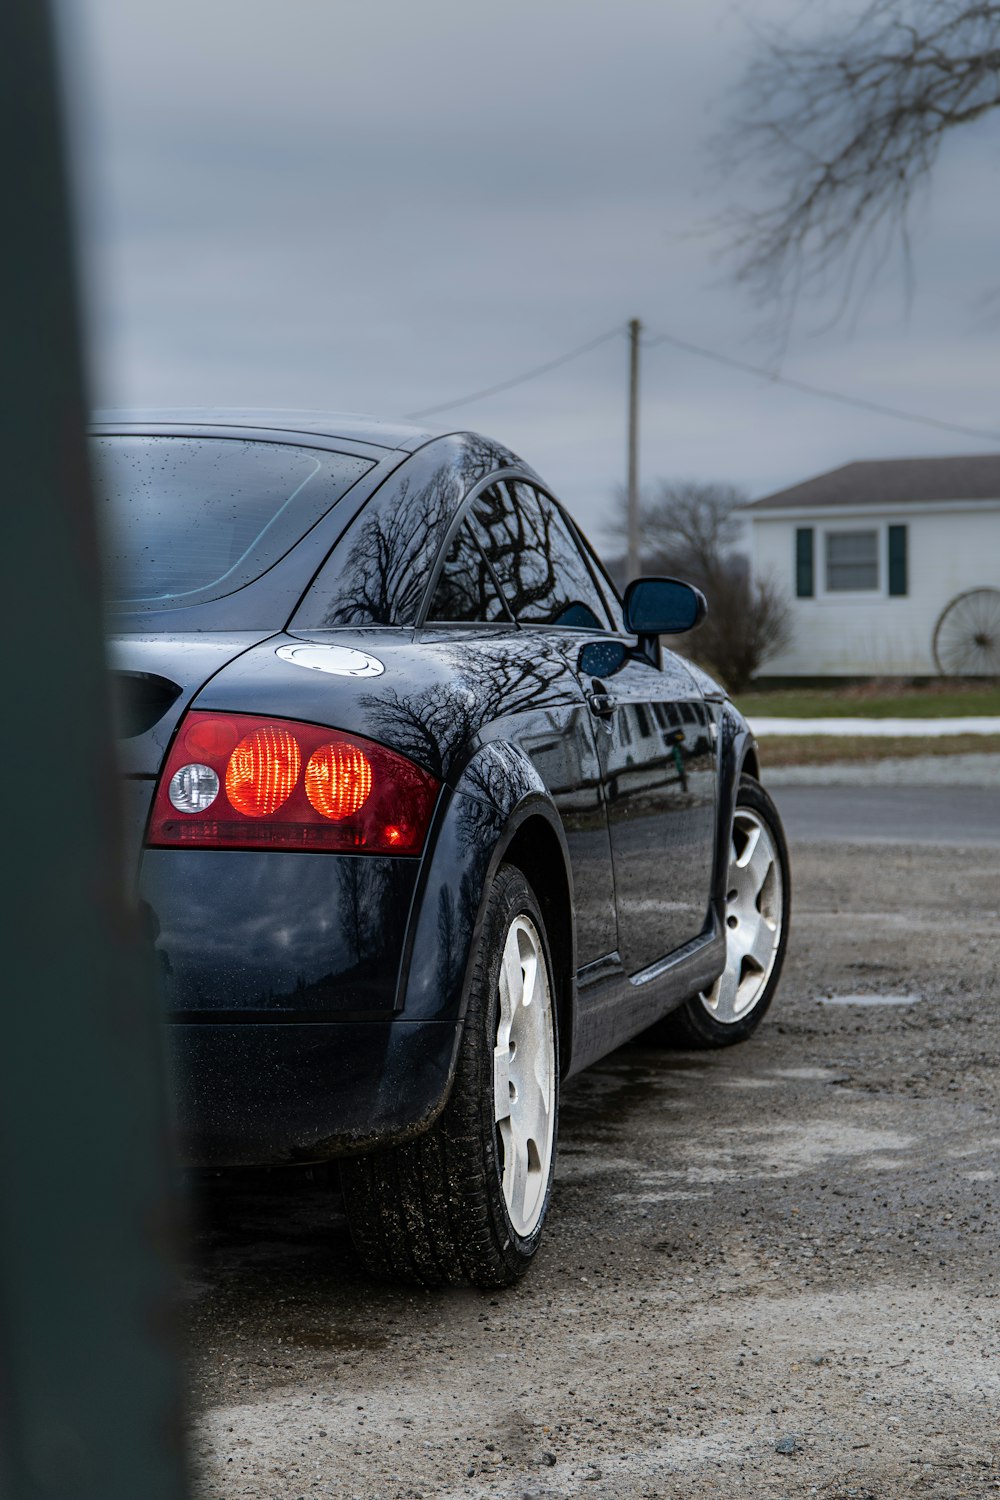
<path fill-rule="evenodd" d="M 945 135 L 1000 106 L 1000 4 L 873 0 L 811 40 L 763 38 L 721 148 L 763 168 L 765 206 L 732 216 L 736 274 L 760 302 L 840 285 L 898 246 Z"/>

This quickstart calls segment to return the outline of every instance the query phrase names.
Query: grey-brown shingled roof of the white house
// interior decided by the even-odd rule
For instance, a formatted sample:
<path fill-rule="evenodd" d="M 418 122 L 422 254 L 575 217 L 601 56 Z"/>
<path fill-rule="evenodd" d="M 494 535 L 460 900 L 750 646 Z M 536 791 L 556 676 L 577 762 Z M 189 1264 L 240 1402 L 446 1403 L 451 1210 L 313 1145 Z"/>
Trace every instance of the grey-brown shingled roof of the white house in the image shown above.
<path fill-rule="evenodd" d="M 949 500 L 1000 500 L 1000 453 L 844 464 L 754 500 L 744 508 L 805 510 L 813 506 L 898 506 Z"/>

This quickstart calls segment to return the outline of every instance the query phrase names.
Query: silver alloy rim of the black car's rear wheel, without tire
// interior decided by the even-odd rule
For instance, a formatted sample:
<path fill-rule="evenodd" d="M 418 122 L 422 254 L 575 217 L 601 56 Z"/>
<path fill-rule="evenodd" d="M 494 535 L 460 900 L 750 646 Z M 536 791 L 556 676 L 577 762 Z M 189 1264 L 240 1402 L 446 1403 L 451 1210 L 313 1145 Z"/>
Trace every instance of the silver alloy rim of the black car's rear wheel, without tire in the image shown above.
<path fill-rule="evenodd" d="M 556 1052 L 552 987 L 538 928 L 523 914 L 507 928 L 493 1048 L 493 1118 L 504 1155 L 504 1203 L 528 1236 L 546 1202 L 555 1137 Z"/>

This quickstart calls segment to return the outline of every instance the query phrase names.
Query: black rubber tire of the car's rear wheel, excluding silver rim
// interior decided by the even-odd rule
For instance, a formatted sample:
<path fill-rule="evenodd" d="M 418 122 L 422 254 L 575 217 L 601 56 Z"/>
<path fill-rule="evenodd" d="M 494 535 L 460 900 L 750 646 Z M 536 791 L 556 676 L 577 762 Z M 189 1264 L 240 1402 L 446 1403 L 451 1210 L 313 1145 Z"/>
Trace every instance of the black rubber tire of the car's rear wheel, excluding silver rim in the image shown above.
<path fill-rule="evenodd" d="M 553 1054 L 552 1152 L 541 1212 L 519 1234 L 504 1198 L 504 1146 L 493 1107 L 499 969 L 511 924 L 540 938 L 549 986 Z M 490 890 L 469 976 L 457 1071 L 436 1124 L 414 1142 L 340 1164 L 343 1202 L 364 1269 L 391 1281 L 507 1287 L 531 1264 L 552 1196 L 559 1100 L 552 958 L 541 910 L 520 870 L 501 866 Z"/>

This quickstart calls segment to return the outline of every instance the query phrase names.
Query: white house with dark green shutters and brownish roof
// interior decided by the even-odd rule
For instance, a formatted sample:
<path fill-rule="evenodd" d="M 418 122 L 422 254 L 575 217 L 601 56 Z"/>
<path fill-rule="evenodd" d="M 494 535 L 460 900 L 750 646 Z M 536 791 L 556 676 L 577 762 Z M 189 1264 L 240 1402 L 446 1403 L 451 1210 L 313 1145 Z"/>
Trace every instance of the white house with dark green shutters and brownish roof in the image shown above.
<path fill-rule="evenodd" d="M 769 676 L 1000 672 L 1000 454 L 847 464 L 742 514 L 792 609 Z"/>

